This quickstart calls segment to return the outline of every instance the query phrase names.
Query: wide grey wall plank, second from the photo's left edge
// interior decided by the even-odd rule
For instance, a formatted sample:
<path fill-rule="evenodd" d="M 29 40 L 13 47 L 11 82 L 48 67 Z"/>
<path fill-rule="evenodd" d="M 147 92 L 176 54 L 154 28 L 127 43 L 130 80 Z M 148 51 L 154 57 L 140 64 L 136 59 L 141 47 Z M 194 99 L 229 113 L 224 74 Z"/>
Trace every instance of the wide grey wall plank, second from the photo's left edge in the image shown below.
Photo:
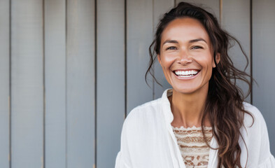
<path fill-rule="evenodd" d="M 11 164 L 43 167 L 43 1 L 11 3 Z"/>

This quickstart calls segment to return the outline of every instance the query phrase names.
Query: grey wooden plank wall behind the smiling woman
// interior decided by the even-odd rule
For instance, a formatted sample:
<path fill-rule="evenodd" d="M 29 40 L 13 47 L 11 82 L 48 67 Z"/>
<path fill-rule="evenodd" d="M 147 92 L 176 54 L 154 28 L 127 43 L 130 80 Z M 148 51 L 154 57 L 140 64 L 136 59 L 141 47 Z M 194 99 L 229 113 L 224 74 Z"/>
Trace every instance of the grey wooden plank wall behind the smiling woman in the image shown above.
<path fill-rule="evenodd" d="M 0 0 L 0 166 L 114 167 L 122 123 L 169 87 L 144 74 L 174 0 Z M 275 154 L 275 1 L 195 0 L 239 38 Z M 236 66 L 245 59 L 230 50 Z M 247 86 L 239 83 L 244 91 Z"/>

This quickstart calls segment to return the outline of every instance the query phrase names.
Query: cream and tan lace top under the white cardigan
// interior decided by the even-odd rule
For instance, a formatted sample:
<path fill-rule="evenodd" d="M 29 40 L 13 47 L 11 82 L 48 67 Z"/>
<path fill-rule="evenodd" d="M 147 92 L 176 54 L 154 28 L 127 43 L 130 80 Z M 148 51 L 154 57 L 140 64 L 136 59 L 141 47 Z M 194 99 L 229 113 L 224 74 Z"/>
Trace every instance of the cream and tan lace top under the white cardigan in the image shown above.
<path fill-rule="evenodd" d="M 209 146 L 202 135 L 202 127 L 173 127 L 186 168 L 206 168 L 209 162 Z M 204 127 L 208 144 L 212 139 L 212 127 Z"/>

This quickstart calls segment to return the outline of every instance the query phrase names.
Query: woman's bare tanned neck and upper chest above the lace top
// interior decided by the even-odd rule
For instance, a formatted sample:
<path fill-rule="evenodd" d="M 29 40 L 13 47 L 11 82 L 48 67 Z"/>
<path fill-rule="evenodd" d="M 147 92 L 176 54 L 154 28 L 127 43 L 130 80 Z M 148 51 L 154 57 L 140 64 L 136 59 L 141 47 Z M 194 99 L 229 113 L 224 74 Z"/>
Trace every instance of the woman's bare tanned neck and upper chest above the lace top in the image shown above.
<path fill-rule="evenodd" d="M 206 84 L 200 90 L 188 94 L 173 90 L 173 95 L 169 97 L 171 111 L 174 115 L 171 125 L 175 127 L 202 126 L 208 89 L 209 85 Z M 204 125 L 211 126 L 208 120 L 204 120 Z"/>

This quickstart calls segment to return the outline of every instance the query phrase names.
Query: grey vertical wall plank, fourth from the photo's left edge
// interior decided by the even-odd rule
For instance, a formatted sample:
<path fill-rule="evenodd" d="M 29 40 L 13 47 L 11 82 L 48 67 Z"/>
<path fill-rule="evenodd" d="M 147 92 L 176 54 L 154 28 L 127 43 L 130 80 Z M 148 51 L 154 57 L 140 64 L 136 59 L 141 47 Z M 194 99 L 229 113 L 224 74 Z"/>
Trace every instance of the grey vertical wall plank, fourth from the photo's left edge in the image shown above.
<path fill-rule="evenodd" d="M 94 165 L 94 0 L 67 1 L 67 167 Z"/>

